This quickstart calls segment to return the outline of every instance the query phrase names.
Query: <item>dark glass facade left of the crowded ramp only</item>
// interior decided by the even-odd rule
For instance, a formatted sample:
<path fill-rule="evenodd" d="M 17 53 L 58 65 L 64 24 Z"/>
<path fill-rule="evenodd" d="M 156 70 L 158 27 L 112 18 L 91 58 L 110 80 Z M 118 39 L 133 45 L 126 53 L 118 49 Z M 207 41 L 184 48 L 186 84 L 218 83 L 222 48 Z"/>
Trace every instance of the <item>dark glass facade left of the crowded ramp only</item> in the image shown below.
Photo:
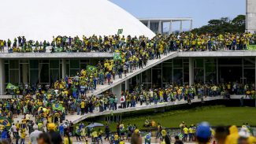
<path fill-rule="evenodd" d="M 87 65 L 91 60 L 66 60 L 66 74 L 74 76 Z M 62 77 L 62 60 L 6 60 L 5 75 L 6 83 L 54 83 Z"/>

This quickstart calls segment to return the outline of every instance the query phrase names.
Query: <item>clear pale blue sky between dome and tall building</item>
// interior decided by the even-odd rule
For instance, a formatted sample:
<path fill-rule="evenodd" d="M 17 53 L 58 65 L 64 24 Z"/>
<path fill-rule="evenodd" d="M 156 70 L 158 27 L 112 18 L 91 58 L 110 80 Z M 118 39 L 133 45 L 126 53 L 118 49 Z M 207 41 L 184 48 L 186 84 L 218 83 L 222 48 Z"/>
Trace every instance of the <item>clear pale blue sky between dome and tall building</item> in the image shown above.
<path fill-rule="evenodd" d="M 193 28 L 206 25 L 209 20 L 246 14 L 246 0 L 110 0 L 134 17 L 191 17 Z M 174 23 L 173 29 L 180 28 Z M 188 29 L 189 22 L 184 22 Z M 164 29 L 168 24 L 164 25 Z"/>

